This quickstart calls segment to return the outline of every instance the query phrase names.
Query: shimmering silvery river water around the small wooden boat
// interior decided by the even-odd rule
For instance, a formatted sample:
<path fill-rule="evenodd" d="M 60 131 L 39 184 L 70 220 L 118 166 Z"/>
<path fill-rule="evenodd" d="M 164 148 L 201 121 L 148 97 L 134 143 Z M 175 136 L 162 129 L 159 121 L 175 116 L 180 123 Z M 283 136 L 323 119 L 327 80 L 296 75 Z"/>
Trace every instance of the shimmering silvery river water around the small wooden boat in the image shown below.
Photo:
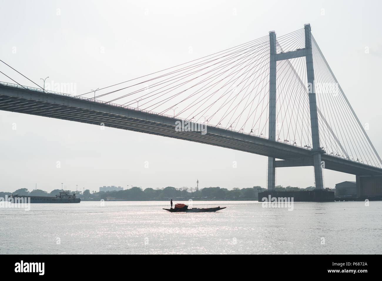
<path fill-rule="evenodd" d="M 382 254 L 382 201 L 295 202 L 293 211 L 193 202 L 227 207 L 215 213 L 169 213 L 162 210 L 169 202 L 104 203 L 0 208 L 0 254 Z"/>

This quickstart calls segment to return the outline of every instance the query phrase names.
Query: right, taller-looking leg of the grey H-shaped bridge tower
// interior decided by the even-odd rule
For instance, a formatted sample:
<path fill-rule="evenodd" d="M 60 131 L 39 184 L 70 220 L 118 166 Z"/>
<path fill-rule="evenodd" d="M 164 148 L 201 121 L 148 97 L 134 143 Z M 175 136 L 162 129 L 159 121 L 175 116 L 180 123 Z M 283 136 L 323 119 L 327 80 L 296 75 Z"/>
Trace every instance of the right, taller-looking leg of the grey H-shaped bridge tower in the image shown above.
<path fill-rule="evenodd" d="M 308 76 L 308 90 L 309 90 L 309 109 L 312 128 L 312 150 L 316 152 L 313 155 L 314 166 L 314 179 L 316 182 L 316 189 L 324 188 L 324 180 L 322 178 L 321 168 L 321 148 L 320 137 L 318 131 L 318 118 L 317 118 L 317 102 L 316 91 L 314 89 L 314 69 L 313 69 L 313 55 L 312 55 L 312 40 L 311 40 L 311 26 L 305 24 L 305 49 L 306 49 L 306 73 Z"/>

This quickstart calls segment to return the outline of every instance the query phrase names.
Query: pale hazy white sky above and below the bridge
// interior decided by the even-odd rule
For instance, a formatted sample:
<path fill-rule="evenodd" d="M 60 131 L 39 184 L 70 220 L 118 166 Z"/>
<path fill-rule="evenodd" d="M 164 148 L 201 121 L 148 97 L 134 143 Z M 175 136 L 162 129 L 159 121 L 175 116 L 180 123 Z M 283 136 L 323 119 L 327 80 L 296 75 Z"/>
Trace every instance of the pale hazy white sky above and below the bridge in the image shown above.
<path fill-rule="evenodd" d="M 1 60 L 42 85 L 105 87 L 310 23 L 382 154 L 380 1 L 0 1 Z M 193 52 L 189 53 L 189 47 Z M 369 53 L 365 53 L 365 48 Z M 0 71 L 33 86 L 5 65 Z M 0 81 L 11 82 L 0 74 Z M 17 78 L 17 79 L 16 79 Z M 16 129 L 15 129 L 16 125 Z M 99 186 L 265 187 L 267 157 L 138 132 L 0 111 L 0 191 Z M 57 168 L 60 161 L 60 168 Z M 145 168 L 148 161 L 148 168 Z M 233 168 L 233 161 L 237 168 Z M 312 186 L 312 167 L 277 184 Z M 324 170 L 325 187 L 355 176 Z"/>

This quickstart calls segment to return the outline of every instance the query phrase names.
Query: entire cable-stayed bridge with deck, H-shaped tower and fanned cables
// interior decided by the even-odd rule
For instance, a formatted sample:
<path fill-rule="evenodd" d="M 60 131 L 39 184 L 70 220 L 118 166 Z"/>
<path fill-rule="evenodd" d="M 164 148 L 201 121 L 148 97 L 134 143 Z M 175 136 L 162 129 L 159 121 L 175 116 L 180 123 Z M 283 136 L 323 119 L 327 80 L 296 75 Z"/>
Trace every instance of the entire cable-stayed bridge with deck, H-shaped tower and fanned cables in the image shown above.
<path fill-rule="evenodd" d="M 359 189 L 382 189 L 382 161 L 309 24 L 80 95 L 1 73 L 12 83 L 0 82 L 0 110 L 264 155 L 269 190 L 275 168 L 288 166 L 313 166 L 317 189 L 323 169 L 357 175 Z"/>

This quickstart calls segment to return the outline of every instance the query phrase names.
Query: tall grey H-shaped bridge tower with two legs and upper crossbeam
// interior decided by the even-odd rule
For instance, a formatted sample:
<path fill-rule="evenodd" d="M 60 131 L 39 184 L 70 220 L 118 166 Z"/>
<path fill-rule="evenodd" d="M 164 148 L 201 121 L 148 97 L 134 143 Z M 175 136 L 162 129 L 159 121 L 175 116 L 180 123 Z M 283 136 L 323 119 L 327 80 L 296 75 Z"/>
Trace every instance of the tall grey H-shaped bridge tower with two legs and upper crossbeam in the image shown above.
<path fill-rule="evenodd" d="M 305 48 L 298 49 L 286 53 L 276 53 L 276 34 L 274 31 L 269 32 L 270 44 L 270 65 L 269 65 L 269 133 L 270 140 L 276 141 L 276 64 L 280 60 L 289 60 L 291 58 L 305 57 L 306 59 L 306 72 L 308 78 L 308 91 L 309 91 L 309 111 L 312 128 L 312 153 L 313 153 L 313 167 L 314 179 L 316 182 L 316 189 L 324 188 L 324 181 L 322 178 L 321 167 L 321 153 L 324 151 L 320 148 L 320 137 L 318 130 L 317 118 L 317 103 L 316 93 L 314 90 L 314 68 L 313 68 L 313 55 L 312 55 L 312 42 L 311 42 L 311 26 L 310 24 L 304 25 L 305 29 Z M 275 189 L 275 158 L 268 157 L 268 181 L 267 189 Z"/>

